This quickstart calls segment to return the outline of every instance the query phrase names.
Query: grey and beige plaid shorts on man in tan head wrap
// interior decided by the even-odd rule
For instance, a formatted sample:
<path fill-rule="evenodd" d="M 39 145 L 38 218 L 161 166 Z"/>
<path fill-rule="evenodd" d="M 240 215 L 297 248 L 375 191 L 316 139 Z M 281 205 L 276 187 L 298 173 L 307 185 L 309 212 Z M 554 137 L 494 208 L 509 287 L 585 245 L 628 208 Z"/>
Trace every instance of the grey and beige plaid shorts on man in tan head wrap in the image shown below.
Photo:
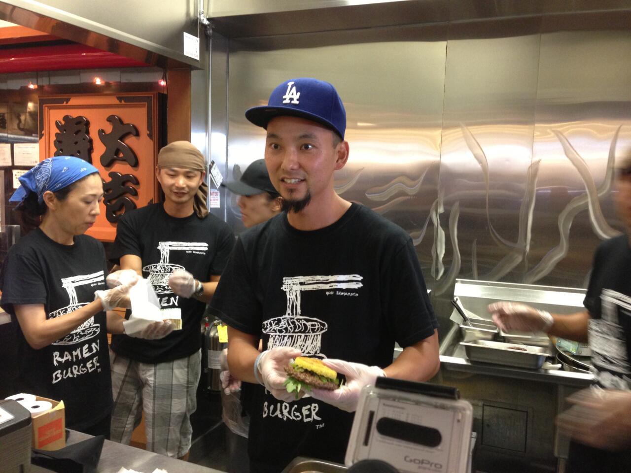
<path fill-rule="evenodd" d="M 183 457 L 191 448 L 191 414 L 197 408 L 201 351 L 165 363 L 140 363 L 110 350 L 111 440 L 129 445 L 144 411 L 147 450 Z"/>

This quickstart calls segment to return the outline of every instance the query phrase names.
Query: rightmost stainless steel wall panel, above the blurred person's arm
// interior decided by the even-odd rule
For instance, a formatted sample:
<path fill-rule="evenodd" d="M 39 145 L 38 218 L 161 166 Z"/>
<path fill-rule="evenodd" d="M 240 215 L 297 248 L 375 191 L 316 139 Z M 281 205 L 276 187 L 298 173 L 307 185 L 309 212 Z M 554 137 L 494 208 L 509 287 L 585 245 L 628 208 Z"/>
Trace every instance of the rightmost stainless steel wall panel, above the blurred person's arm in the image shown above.
<path fill-rule="evenodd" d="M 524 282 L 582 287 L 595 248 L 622 230 L 611 180 L 631 146 L 631 33 L 544 33 L 539 71 L 537 244 Z"/>

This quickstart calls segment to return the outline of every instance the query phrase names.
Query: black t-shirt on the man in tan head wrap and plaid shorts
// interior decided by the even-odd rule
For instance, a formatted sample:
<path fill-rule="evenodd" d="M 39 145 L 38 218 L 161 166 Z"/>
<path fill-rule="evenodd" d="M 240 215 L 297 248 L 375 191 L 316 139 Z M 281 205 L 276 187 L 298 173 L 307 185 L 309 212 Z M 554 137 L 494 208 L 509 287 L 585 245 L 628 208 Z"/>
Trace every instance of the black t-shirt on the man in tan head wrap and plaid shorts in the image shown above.
<path fill-rule="evenodd" d="M 168 215 L 162 204 L 152 204 L 125 213 L 116 229 L 112 260 L 136 255 L 143 264 L 143 277 L 149 279 L 160 300 L 165 318 L 179 313 L 182 330 L 174 330 L 160 340 L 143 340 L 126 335 L 112 336 L 112 350 L 142 363 L 162 363 L 190 356 L 201 346 L 201 317 L 206 305 L 195 298 L 176 296 L 168 277 L 178 269 L 190 272 L 199 281 L 219 276 L 235 238 L 227 223 L 208 214 L 199 218 Z M 168 310 L 170 315 L 165 311 Z M 129 316 L 129 311 L 127 311 Z"/>

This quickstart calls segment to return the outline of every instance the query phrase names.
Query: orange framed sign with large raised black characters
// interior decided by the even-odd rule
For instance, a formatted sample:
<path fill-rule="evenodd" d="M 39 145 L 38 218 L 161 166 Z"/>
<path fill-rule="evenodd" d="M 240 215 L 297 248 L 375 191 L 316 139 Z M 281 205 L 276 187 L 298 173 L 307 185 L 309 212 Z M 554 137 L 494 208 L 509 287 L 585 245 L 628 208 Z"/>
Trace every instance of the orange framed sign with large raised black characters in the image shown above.
<path fill-rule="evenodd" d="M 86 233 L 105 242 L 121 215 L 158 200 L 158 94 L 40 96 L 39 156 L 77 156 L 96 166 L 105 196 Z"/>

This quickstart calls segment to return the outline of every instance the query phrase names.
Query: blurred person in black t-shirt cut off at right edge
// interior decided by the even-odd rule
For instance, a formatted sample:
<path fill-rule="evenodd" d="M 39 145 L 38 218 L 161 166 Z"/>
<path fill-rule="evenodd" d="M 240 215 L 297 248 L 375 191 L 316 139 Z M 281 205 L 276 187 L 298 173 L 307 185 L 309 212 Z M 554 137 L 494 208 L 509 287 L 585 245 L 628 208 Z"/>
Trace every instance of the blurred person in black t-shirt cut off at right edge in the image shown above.
<path fill-rule="evenodd" d="M 625 233 L 596 250 L 586 310 L 560 315 L 521 303 L 489 306 L 502 330 L 589 340 L 594 385 L 571 395 L 572 407 L 557 418 L 572 438 L 567 473 L 631 470 L 631 155 L 616 161 L 614 201 Z"/>

